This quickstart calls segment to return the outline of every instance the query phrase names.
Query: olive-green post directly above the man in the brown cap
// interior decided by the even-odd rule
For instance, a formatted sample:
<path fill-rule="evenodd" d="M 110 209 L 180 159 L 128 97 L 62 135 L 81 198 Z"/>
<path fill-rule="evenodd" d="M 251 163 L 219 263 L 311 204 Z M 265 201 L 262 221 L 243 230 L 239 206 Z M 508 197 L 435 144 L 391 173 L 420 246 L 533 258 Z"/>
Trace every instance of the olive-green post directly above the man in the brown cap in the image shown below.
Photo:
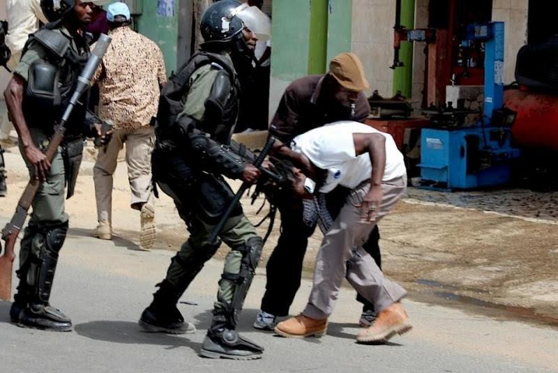
<path fill-rule="evenodd" d="M 328 0 L 310 0 L 308 74 L 323 74 L 327 64 Z"/>

